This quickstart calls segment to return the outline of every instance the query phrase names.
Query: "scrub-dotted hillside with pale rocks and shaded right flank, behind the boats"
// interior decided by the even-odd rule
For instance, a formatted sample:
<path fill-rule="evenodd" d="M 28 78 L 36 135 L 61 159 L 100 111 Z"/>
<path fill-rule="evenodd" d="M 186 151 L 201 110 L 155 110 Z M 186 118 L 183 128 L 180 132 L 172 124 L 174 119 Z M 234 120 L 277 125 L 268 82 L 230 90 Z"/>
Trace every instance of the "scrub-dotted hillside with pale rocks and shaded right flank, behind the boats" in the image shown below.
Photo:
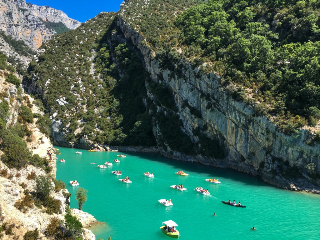
<path fill-rule="evenodd" d="M 46 43 L 24 83 L 36 77 L 44 90 L 37 97 L 61 121 L 68 142 L 153 146 L 142 101 L 148 76 L 132 46 L 116 39 L 109 44 L 114 17 L 101 13 Z"/>

